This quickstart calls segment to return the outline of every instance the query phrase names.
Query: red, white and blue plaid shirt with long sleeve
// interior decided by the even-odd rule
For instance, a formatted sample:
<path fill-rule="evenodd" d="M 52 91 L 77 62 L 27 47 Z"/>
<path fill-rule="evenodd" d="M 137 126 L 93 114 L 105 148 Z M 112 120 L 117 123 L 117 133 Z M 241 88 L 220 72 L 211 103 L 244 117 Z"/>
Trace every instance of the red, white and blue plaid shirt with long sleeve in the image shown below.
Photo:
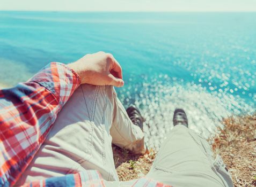
<path fill-rule="evenodd" d="M 81 84 L 61 63 L 50 63 L 25 83 L 0 90 L 0 186 L 13 185 L 39 150 L 58 112 Z M 147 178 L 129 186 L 166 186 Z M 96 170 L 34 181 L 25 186 L 105 186 Z"/>

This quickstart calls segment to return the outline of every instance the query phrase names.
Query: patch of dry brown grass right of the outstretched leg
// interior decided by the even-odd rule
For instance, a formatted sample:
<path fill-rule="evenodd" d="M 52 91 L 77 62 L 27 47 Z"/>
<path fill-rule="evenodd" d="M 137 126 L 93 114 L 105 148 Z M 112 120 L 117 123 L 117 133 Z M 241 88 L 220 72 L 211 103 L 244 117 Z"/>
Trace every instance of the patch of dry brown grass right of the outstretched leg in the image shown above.
<path fill-rule="evenodd" d="M 214 139 L 236 187 L 256 186 L 256 116 L 224 119 L 225 129 Z"/>

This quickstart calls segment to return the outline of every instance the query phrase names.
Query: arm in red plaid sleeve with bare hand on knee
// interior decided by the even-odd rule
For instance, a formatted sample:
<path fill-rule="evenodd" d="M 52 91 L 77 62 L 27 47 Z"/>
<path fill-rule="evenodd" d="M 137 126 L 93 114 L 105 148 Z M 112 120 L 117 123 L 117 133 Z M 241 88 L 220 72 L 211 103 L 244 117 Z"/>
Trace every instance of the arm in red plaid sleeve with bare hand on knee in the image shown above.
<path fill-rule="evenodd" d="M 0 186 L 17 181 L 81 83 L 120 87 L 121 67 L 111 54 L 99 52 L 68 66 L 51 63 L 29 81 L 0 90 Z"/>

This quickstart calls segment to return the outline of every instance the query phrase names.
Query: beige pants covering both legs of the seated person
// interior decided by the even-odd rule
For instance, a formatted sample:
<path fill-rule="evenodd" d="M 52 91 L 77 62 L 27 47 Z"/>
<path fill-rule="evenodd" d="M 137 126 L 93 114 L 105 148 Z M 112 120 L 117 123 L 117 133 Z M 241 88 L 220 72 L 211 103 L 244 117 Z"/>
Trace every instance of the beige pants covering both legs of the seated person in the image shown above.
<path fill-rule="evenodd" d="M 83 84 L 58 114 L 16 185 L 96 169 L 104 180 L 113 181 L 107 186 L 129 186 L 119 182 L 112 143 L 134 153 L 144 151 L 144 135 L 128 118 L 113 87 Z M 171 131 L 147 177 L 173 186 L 229 186 L 214 166 L 209 145 L 184 126 Z"/>

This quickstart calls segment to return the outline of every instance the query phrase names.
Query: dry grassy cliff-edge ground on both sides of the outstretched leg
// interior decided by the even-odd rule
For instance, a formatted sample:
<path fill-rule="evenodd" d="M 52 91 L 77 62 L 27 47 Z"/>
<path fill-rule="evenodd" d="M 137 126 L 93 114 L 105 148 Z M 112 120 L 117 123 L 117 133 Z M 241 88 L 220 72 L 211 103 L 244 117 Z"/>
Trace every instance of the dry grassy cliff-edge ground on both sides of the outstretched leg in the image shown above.
<path fill-rule="evenodd" d="M 256 116 L 232 117 L 223 123 L 225 128 L 214 138 L 214 153 L 221 154 L 236 187 L 256 186 Z M 121 181 L 145 176 L 156 156 L 154 150 L 138 156 L 116 146 L 113 152 Z"/>

